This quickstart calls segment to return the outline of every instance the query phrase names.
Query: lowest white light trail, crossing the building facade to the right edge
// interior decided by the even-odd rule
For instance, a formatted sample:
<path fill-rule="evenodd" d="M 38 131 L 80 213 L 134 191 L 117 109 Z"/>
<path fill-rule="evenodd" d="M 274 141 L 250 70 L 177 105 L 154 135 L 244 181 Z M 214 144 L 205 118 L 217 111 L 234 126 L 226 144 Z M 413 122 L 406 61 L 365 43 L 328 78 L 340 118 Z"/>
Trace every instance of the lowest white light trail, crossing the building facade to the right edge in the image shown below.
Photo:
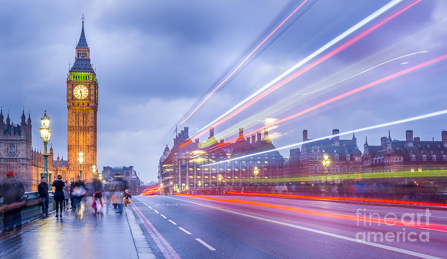
<path fill-rule="evenodd" d="M 383 128 L 383 127 L 388 127 L 388 126 L 392 126 L 392 125 L 402 124 L 402 123 L 415 121 L 415 120 L 420 120 L 420 119 L 426 119 L 426 118 L 439 116 L 439 115 L 443 115 L 443 114 L 447 114 L 447 109 L 440 110 L 440 111 L 435 111 L 435 112 L 430 112 L 430 113 L 426 113 L 426 114 L 423 114 L 423 115 L 418 115 L 418 116 L 414 116 L 414 117 L 410 117 L 410 118 L 406 118 L 406 119 L 400 119 L 400 120 L 385 122 L 385 123 L 381 123 L 381 124 L 376 124 L 376 125 L 373 125 L 373 126 L 363 127 L 363 128 L 359 128 L 359 129 L 355 129 L 355 130 L 349 130 L 349 131 L 345 131 L 345 132 L 342 132 L 342 133 L 339 133 L 339 134 L 327 135 L 327 136 L 324 136 L 324 137 L 319 137 L 319 138 L 312 139 L 312 140 L 302 141 L 302 142 L 290 144 L 290 145 L 283 146 L 283 147 L 276 148 L 276 149 L 266 150 L 266 151 L 262 151 L 262 152 L 258 152 L 258 153 L 249 154 L 249 155 L 242 155 L 242 156 L 238 156 L 238 157 L 235 157 L 235 158 L 231 158 L 231 159 L 227 159 L 227 160 L 223 160 L 223 161 L 219 161 L 219 162 L 204 164 L 204 165 L 201 165 L 200 167 L 210 166 L 210 165 L 215 165 L 215 164 L 220 164 L 220 163 L 226 163 L 226 162 L 239 160 L 239 159 L 246 158 L 246 157 L 253 156 L 253 155 L 261 155 L 261 154 L 265 154 L 265 153 L 269 153 L 269 152 L 273 152 L 273 151 L 280 151 L 280 150 L 284 150 L 284 149 L 290 149 L 290 148 L 293 148 L 293 147 L 296 147 L 296 146 L 300 146 L 302 144 L 312 143 L 312 142 L 319 141 L 319 140 L 324 140 L 324 139 L 327 139 L 327 138 L 332 138 L 332 137 L 337 137 L 337 136 L 344 136 L 344 135 L 350 135 L 350 134 L 353 134 L 354 132 L 357 133 L 357 132 L 362 132 L 362 131 L 367 131 L 367 130 L 373 130 L 373 129 Z"/>

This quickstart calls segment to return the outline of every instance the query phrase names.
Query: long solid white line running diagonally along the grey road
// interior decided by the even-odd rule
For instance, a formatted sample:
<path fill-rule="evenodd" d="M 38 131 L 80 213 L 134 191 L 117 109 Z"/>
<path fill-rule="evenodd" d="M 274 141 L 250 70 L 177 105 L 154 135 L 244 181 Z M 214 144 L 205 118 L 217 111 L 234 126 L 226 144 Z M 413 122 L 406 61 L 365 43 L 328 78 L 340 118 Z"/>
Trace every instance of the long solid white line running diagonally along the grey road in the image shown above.
<path fill-rule="evenodd" d="M 401 248 L 397 248 L 397 247 L 385 246 L 385 245 L 382 245 L 382 244 L 376 244 L 376 243 L 373 243 L 373 242 L 358 240 L 358 239 L 351 238 L 351 237 L 345 237 L 345 236 L 342 236 L 342 235 L 333 234 L 333 233 L 329 233 L 329 232 L 325 232 L 325 231 L 321 231 L 321 230 L 317 230 L 317 229 L 313 229 L 313 228 L 308 228 L 308 227 L 298 226 L 298 225 L 294 225 L 294 224 L 290 224 L 290 223 L 286 223 L 286 222 L 281 222 L 281 221 L 277 221 L 277 220 L 273 220 L 273 219 L 253 216 L 253 215 L 249 215 L 249 214 L 245 214 L 245 213 L 241 213 L 241 212 L 237 212 L 237 211 L 233 211 L 233 210 L 229 210 L 229 209 L 225 209 L 225 208 L 221 208 L 221 207 L 214 207 L 214 206 L 210 206 L 210 205 L 205 205 L 205 204 L 185 201 L 185 200 L 171 198 L 171 197 L 165 197 L 165 196 L 163 196 L 163 197 L 164 198 L 168 198 L 168 199 L 174 199 L 174 200 L 182 201 L 182 202 L 192 203 L 192 204 L 196 204 L 196 205 L 200 205 L 200 206 L 204 206 L 204 207 L 215 208 L 215 209 L 219 209 L 219 210 L 222 210 L 222 211 L 226 211 L 226 212 L 229 212 L 229 213 L 234 213 L 234 214 L 245 216 L 245 217 L 251 217 L 251 218 L 254 218 L 254 219 L 259 219 L 259 220 L 263 220 L 263 221 L 267 221 L 267 222 L 271 222 L 271 223 L 276 223 L 276 224 L 280 224 L 280 225 L 284 225 L 284 226 L 298 228 L 298 229 L 301 229 L 301 230 L 305 230 L 305 231 L 309 231 L 309 232 L 313 232 L 313 233 L 317 233 L 317 234 L 322 234 L 322 235 L 326 235 L 326 236 L 330 236 L 330 237 L 335 237 L 335 238 L 339 238 L 339 239 L 353 241 L 353 242 L 356 242 L 356 243 L 360 243 L 360 244 L 364 244 L 364 245 L 368 245 L 368 246 L 372 246 L 372 247 L 378 247 L 378 248 L 382 248 L 382 249 L 386 249 L 386 250 L 390 250 L 390 251 L 394 251 L 394 252 L 398 252 L 398 253 L 402 253 L 402 254 L 407 254 L 407 255 L 411 255 L 411 256 L 422 257 L 422 258 L 438 258 L 438 257 L 434 257 L 434 256 L 430 256 L 430 255 L 426 255 L 426 254 L 422 254 L 422 253 L 418 253 L 418 252 L 414 252 L 414 251 L 410 251 L 410 250 L 405 250 L 405 249 L 401 249 Z M 196 240 L 197 240 L 197 238 L 196 238 Z M 199 240 L 197 240 L 197 241 L 199 241 Z"/>

